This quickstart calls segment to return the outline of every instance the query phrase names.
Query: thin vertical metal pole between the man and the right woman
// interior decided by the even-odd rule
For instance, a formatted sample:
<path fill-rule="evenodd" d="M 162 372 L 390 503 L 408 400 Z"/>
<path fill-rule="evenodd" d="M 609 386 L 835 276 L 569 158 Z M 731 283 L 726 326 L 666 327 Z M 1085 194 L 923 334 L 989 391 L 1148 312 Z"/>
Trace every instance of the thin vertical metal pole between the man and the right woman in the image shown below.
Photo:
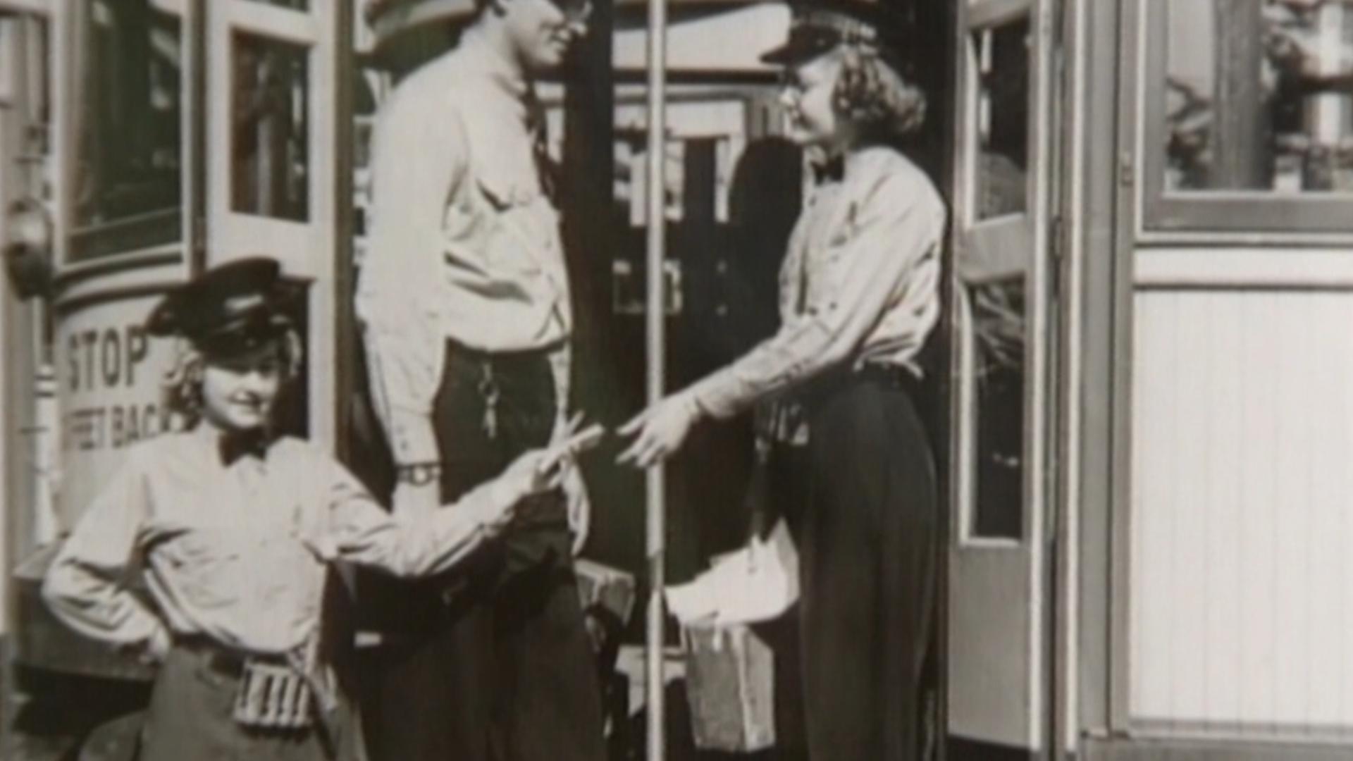
<path fill-rule="evenodd" d="M 667 218 L 664 209 L 666 183 L 663 176 L 667 153 L 667 116 L 664 112 L 667 87 L 667 0 L 648 0 L 648 404 L 663 397 L 667 337 L 664 320 L 667 305 L 663 299 L 663 259 Z M 667 505 L 664 501 L 664 471 L 659 463 L 647 474 L 647 552 L 648 552 L 648 647 L 645 653 L 648 704 L 648 761 L 666 757 L 667 715 L 663 704 L 663 586 L 667 558 L 664 528 Z"/>

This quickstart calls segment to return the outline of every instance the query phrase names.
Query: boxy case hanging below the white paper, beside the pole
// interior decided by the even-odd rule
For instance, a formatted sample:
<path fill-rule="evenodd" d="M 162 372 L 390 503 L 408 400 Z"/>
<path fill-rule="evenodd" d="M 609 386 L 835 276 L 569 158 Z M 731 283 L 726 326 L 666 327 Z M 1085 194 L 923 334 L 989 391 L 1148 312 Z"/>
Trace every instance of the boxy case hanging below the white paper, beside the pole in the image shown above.
<path fill-rule="evenodd" d="M 690 626 L 686 699 L 695 747 L 748 753 L 775 745 L 775 657 L 746 624 Z"/>

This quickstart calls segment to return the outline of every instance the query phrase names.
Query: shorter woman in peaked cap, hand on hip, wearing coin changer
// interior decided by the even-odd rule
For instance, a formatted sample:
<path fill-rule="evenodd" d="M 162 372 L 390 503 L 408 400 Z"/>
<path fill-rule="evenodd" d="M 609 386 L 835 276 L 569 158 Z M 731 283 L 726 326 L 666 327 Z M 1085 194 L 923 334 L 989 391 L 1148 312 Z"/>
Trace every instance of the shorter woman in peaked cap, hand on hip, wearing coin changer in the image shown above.
<path fill-rule="evenodd" d="M 455 509 L 396 520 L 326 452 L 276 436 L 300 362 L 295 295 L 276 261 L 246 259 L 164 298 L 147 329 L 180 343 L 165 394 L 185 429 L 127 452 L 43 584 L 70 627 L 160 664 L 142 761 L 354 758 L 323 626 L 330 563 L 445 570 L 556 485 L 528 452 Z M 149 594 L 129 588 L 138 567 Z"/>

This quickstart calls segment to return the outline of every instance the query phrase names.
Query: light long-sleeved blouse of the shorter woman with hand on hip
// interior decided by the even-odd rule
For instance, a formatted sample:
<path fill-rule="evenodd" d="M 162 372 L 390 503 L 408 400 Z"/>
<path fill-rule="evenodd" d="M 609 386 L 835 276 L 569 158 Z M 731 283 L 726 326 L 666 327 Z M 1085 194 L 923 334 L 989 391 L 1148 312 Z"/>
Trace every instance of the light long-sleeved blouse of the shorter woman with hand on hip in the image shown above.
<path fill-rule="evenodd" d="M 226 464 L 219 435 L 202 424 L 127 452 L 42 593 L 66 624 L 111 643 L 145 643 L 166 627 L 285 653 L 319 626 L 322 554 L 402 577 L 437 573 L 491 536 L 494 498 L 484 485 L 429 516 L 396 519 L 318 447 L 284 437 Z"/>

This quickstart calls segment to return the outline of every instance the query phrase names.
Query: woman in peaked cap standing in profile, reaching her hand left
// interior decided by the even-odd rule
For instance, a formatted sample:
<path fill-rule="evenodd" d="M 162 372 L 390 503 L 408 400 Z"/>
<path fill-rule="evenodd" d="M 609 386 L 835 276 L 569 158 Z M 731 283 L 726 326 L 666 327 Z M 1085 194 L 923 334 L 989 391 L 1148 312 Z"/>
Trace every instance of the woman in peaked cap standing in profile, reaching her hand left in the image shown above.
<path fill-rule="evenodd" d="M 946 211 L 890 145 L 920 127 L 902 24 L 863 4 L 794 8 L 785 66 L 789 137 L 819 184 L 781 269 L 779 330 L 644 410 L 622 462 L 672 454 L 702 417 L 763 402 L 773 464 L 806 494 L 800 546 L 806 739 L 815 761 L 921 753 L 939 509 L 917 412 L 919 353 L 939 317 Z"/>

